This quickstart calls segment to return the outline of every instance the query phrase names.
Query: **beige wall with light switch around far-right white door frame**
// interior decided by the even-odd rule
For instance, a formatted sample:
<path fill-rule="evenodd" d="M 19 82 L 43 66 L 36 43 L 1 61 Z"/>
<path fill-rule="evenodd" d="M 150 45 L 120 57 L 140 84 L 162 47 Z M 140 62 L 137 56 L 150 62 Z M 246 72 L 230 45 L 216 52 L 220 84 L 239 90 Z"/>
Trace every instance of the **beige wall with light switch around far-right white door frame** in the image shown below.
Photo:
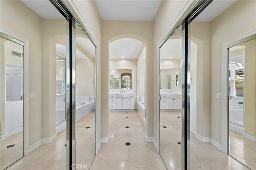
<path fill-rule="evenodd" d="M 256 26 L 256 1 L 237 1 L 210 22 L 210 138 L 222 144 L 222 43 Z M 239 23 L 239 24 L 238 24 Z M 232 31 L 231 31 L 232 30 Z"/>

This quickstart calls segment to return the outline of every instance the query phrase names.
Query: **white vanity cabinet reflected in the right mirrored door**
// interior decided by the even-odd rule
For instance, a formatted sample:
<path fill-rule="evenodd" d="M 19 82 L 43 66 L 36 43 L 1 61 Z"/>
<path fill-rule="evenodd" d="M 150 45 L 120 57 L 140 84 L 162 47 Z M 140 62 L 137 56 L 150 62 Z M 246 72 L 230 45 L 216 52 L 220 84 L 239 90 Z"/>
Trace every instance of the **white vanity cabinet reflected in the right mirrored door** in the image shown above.
<path fill-rule="evenodd" d="M 160 109 L 164 110 L 179 110 L 180 109 L 180 94 L 161 95 Z"/>

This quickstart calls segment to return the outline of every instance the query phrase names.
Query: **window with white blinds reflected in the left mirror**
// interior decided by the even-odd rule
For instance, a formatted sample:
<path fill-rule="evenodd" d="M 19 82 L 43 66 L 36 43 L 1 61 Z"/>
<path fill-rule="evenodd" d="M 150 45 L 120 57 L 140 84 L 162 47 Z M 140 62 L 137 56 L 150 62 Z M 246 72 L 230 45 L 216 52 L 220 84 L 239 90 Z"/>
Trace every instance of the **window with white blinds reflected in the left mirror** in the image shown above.
<path fill-rule="evenodd" d="M 56 65 L 56 95 L 62 95 L 62 87 L 65 86 L 65 67 Z"/>

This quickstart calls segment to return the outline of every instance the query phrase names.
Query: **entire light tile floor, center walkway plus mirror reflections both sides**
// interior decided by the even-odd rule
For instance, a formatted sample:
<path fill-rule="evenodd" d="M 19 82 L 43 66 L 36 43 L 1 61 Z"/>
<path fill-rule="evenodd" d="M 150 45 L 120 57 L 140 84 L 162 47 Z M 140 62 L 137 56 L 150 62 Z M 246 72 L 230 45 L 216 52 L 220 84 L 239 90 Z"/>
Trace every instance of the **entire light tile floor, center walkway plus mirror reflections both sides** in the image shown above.
<path fill-rule="evenodd" d="M 144 138 L 144 125 L 138 112 L 110 112 L 110 140 L 102 143 L 94 158 L 94 113 L 76 125 L 77 164 L 92 163 L 92 170 L 170 170 L 180 169 L 181 129 L 179 112 L 161 112 L 160 135 L 162 158 L 153 143 Z M 128 117 L 126 119 L 126 117 Z M 128 126 L 129 128 L 125 128 Z M 166 126 L 167 128 L 162 128 Z M 90 127 L 86 129 L 85 127 Z M 203 143 L 191 134 L 191 169 L 244 170 L 245 166 L 224 154 L 210 143 Z M 125 143 L 130 142 L 129 146 Z M 181 142 L 181 141 L 180 141 Z M 42 144 L 9 169 L 64 170 L 66 169 L 66 130 L 50 144 Z M 164 161 L 164 162 L 163 162 Z M 164 165 L 166 164 L 166 166 Z M 80 168 L 84 169 L 84 168 Z"/>

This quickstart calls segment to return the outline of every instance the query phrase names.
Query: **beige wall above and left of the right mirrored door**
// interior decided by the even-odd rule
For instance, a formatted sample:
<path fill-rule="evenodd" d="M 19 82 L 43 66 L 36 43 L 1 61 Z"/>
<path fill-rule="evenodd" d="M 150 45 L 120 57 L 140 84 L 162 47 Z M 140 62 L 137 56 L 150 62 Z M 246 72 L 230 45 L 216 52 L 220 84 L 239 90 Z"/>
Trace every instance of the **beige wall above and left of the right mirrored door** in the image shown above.
<path fill-rule="evenodd" d="M 157 105 L 159 105 L 159 101 L 157 100 L 157 96 L 154 94 L 157 94 L 158 88 L 157 83 L 158 80 L 156 79 L 156 75 L 158 74 L 157 71 L 157 65 L 158 65 L 158 59 L 157 59 L 157 48 L 158 48 L 158 42 L 162 41 L 164 36 L 166 36 L 167 29 L 170 26 L 170 24 L 173 22 L 174 18 L 177 16 L 177 14 L 180 12 L 184 4 L 186 4 L 186 0 L 182 1 L 172 1 L 172 0 L 165 0 L 162 1 L 160 4 L 160 7 L 158 9 L 158 12 L 156 14 L 155 20 L 154 20 L 154 91 L 152 94 L 152 97 L 154 97 L 154 139 L 157 139 Z M 180 66 L 179 66 L 180 67 Z"/>

